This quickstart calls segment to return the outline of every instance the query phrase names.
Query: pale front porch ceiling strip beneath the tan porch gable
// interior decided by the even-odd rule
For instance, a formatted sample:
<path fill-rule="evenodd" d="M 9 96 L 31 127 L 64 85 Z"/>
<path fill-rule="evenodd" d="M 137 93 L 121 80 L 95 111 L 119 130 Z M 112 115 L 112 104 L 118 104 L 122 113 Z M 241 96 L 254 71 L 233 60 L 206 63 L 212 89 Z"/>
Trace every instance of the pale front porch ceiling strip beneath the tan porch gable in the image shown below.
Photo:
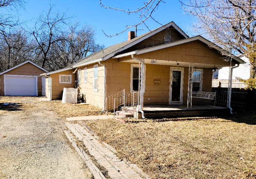
<path fill-rule="evenodd" d="M 151 60 L 154 59 L 145 59 L 145 64 L 152 64 Z M 130 63 L 139 63 L 137 60 L 130 59 L 130 60 L 119 60 L 120 62 L 130 62 Z M 154 60 L 155 61 L 155 60 Z M 180 62 L 180 61 L 166 61 L 166 60 L 157 60 L 157 65 L 170 65 L 170 66 L 177 66 L 177 63 L 181 67 L 189 67 L 189 62 Z M 227 67 L 227 65 L 216 65 L 216 64 L 205 64 L 205 63 L 194 63 L 194 67 L 198 68 L 219 68 L 219 67 Z"/>

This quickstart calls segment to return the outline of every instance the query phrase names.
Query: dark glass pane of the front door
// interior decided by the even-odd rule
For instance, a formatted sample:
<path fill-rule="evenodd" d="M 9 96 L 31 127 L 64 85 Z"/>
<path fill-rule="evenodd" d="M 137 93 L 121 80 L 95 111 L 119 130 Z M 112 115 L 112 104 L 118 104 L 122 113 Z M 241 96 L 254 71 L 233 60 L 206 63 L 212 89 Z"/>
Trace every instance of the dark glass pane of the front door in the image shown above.
<path fill-rule="evenodd" d="M 172 71 L 172 101 L 180 101 L 181 71 Z"/>

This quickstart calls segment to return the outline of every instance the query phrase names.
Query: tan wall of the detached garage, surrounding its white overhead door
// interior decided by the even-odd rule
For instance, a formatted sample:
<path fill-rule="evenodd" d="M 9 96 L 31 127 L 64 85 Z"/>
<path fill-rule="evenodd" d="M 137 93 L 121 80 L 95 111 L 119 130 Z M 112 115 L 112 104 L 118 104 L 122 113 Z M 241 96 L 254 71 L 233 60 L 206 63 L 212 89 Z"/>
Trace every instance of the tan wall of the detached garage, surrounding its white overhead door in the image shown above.
<path fill-rule="evenodd" d="M 20 67 L 14 68 L 0 76 L 0 96 L 4 96 L 4 75 L 28 75 L 28 76 L 38 76 L 37 77 L 37 89 L 38 96 L 42 96 L 42 77 L 40 74 L 45 73 L 44 70 L 36 67 L 31 63 L 25 63 Z"/>

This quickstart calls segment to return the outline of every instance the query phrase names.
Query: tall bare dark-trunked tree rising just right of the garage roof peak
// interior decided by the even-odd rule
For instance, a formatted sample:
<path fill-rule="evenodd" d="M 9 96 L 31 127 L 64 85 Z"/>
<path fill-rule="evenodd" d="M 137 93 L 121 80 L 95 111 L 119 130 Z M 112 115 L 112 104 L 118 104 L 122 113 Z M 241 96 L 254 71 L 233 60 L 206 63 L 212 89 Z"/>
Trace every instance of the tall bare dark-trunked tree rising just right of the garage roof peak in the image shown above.
<path fill-rule="evenodd" d="M 66 20 L 70 17 L 66 13 L 52 12 L 53 6 L 50 7 L 48 12 L 43 12 L 36 19 L 35 27 L 31 34 L 36 39 L 40 54 L 42 56 L 42 68 L 45 63 L 50 68 L 49 51 L 54 43 L 64 40 L 63 26 L 66 25 Z"/>

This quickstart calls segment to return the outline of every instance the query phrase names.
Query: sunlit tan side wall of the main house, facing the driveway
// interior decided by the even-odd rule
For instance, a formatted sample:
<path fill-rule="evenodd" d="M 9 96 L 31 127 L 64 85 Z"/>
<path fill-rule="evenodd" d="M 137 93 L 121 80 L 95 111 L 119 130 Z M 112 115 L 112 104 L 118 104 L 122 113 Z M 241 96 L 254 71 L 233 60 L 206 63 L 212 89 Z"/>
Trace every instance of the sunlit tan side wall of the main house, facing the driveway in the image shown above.
<path fill-rule="evenodd" d="M 78 84 L 78 94 L 84 94 L 85 102 L 103 108 L 104 67 L 98 64 L 98 91 L 93 91 L 93 65 L 87 67 L 87 83 L 84 83 L 84 67 L 81 68 L 81 84 Z M 105 64 L 102 62 L 102 64 Z M 76 75 L 78 73 L 76 72 Z"/>

